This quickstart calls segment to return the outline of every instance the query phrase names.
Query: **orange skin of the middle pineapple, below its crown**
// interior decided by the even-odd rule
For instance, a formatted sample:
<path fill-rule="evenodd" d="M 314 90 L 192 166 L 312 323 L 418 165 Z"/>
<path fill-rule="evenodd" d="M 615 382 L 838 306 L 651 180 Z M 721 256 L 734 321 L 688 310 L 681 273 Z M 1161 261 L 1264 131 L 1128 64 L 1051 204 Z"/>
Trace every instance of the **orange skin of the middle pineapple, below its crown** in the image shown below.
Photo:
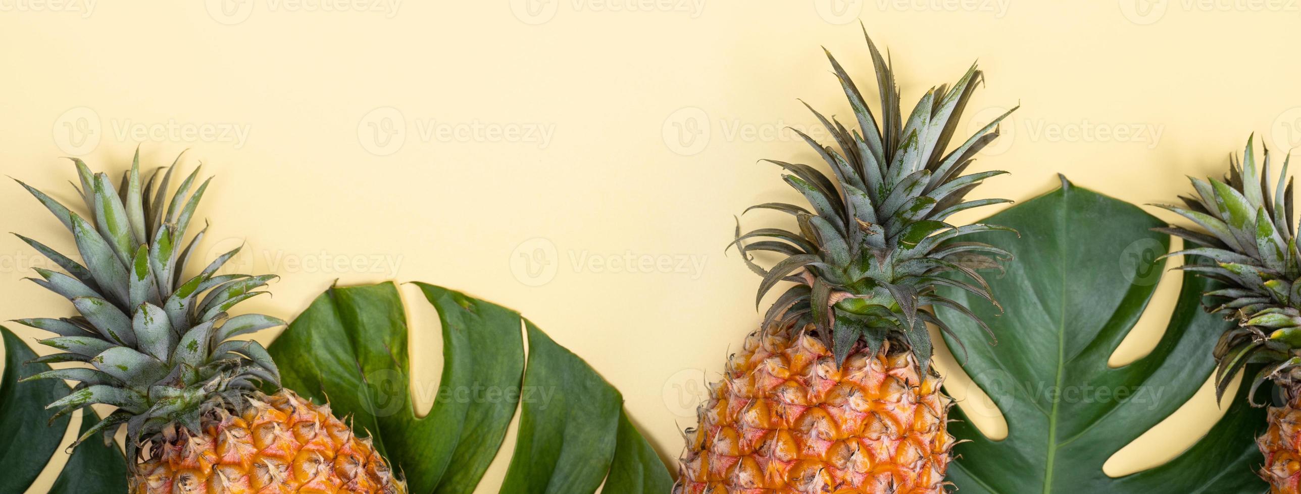
<path fill-rule="evenodd" d="M 687 429 L 673 491 L 942 493 L 954 437 L 941 382 L 889 341 L 837 367 L 807 332 L 756 332 Z"/>

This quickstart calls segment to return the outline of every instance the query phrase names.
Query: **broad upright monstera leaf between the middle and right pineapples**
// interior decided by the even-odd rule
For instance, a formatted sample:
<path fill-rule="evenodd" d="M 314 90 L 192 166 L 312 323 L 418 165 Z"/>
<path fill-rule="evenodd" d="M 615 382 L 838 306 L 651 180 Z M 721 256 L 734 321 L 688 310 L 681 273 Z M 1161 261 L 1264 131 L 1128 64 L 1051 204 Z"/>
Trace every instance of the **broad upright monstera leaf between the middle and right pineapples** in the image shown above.
<path fill-rule="evenodd" d="M 1021 233 L 984 235 L 1011 251 L 1007 273 L 990 277 L 1006 308 L 959 292 L 946 295 L 989 321 L 997 344 L 967 344 L 964 369 L 1003 412 L 1008 436 L 991 441 L 961 411 L 950 432 L 969 442 L 948 480 L 972 493 L 1262 493 L 1253 443 L 1265 413 L 1246 404 L 1241 386 L 1224 419 L 1189 450 L 1147 471 L 1111 478 L 1114 452 L 1168 417 L 1213 372 L 1211 348 L 1231 322 L 1206 313 L 1206 281 L 1185 273 L 1179 302 L 1157 347 L 1110 368 L 1107 359 L 1147 307 L 1164 270 L 1154 257 L 1170 238 L 1140 208 L 1076 187 L 1062 187 L 984 222 Z M 976 235 L 973 235 L 976 237 Z M 1192 263 L 1193 260 L 1189 260 Z M 952 311 L 939 316 L 968 342 L 984 332 Z M 955 341 L 946 335 L 963 359 Z"/>

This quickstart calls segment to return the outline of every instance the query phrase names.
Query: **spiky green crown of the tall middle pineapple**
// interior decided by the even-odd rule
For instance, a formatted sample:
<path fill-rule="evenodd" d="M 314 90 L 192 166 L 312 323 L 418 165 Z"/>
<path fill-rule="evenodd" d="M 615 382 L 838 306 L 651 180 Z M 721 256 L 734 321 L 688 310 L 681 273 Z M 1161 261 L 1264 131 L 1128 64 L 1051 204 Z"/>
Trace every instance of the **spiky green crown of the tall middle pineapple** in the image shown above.
<path fill-rule="evenodd" d="M 891 65 L 866 30 L 864 38 L 876 68 L 881 118 L 877 120 L 853 81 L 826 52 L 861 134 L 805 104 L 831 133 L 839 150 L 822 146 L 799 130 L 795 133 L 827 162 L 834 179 L 809 165 L 765 160 L 787 173 L 782 178 L 809 202 L 812 211 L 785 203 L 752 205 L 745 211 L 775 209 L 795 216 L 799 231 L 765 228 L 742 234 L 738 221 L 732 244 L 751 270 L 764 277 L 756 306 L 778 282 L 796 282 L 768 311 L 764 328 L 812 324 L 838 364 L 844 363 L 860 341 L 874 354 L 891 338 L 902 343 L 899 347 L 911 348 L 925 374 L 932 355 L 925 322 L 952 334 L 926 306 L 952 308 L 989 332 L 974 313 L 939 295 L 937 287 L 967 290 L 998 306 L 976 269 L 1000 268 L 999 261 L 1011 260 L 1012 255 L 985 243 L 951 240 L 980 231 L 1015 230 L 984 224 L 954 226 L 945 220 L 959 211 L 1010 203 L 963 199 L 984 179 L 1007 172 L 967 176 L 963 172 L 998 136 L 998 124 L 1016 108 L 946 153 L 959 117 L 981 82 L 981 72 L 972 65 L 951 88 L 932 87 L 903 121 Z M 756 238 L 761 240 L 747 243 Z M 764 269 L 755 264 L 751 251 L 778 252 L 785 259 Z M 974 285 L 941 276 L 950 272 L 965 274 Z"/>

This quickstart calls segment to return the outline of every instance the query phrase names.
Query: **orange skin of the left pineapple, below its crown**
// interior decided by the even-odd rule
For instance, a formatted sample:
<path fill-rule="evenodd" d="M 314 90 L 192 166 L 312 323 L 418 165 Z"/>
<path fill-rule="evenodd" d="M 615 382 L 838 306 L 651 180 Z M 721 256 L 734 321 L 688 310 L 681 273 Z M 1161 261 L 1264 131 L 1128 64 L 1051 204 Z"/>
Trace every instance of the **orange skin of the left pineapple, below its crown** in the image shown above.
<path fill-rule="evenodd" d="M 369 438 L 282 389 L 250 398 L 243 413 L 224 408 L 203 434 L 170 428 L 137 464 L 131 494 L 382 493 L 406 494 Z"/>

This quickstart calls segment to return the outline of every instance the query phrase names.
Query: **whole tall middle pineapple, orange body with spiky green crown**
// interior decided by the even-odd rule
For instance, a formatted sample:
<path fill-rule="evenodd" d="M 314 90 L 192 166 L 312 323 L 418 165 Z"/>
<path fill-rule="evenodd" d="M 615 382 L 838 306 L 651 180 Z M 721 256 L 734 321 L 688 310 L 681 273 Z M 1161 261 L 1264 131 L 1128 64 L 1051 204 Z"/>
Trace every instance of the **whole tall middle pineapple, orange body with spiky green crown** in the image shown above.
<path fill-rule="evenodd" d="M 961 173 L 997 138 L 998 122 L 1011 112 L 946 152 L 981 72 L 973 65 L 952 88 L 928 91 L 905 122 L 889 62 L 870 38 L 868 48 L 881 120 L 827 53 L 863 134 L 809 108 L 833 131 L 839 150 L 800 135 L 829 164 L 834 179 L 808 165 L 769 160 L 788 173 L 783 179 L 812 211 L 785 203 L 749 208 L 792 214 L 798 233 L 758 229 L 743 235 L 738 224 L 734 244 L 762 276 L 756 304 L 778 282 L 796 283 L 731 356 L 722 381 L 710 385 L 699 424 L 687 429 L 674 493 L 943 490 L 955 445 L 946 425 L 951 402 L 929 365 L 926 322 L 950 329 L 930 307 L 976 318 L 937 287 L 967 290 L 993 303 L 974 269 L 1011 259 L 989 244 L 948 242 L 1011 229 L 954 226 L 945 220 L 1008 202 L 963 200 L 981 181 L 1006 172 Z M 755 238 L 764 239 L 747 242 Z M 785 259 L 762 269 L 751 251 Z M 950 272 L 972 282 L 939 276 Z"/>

